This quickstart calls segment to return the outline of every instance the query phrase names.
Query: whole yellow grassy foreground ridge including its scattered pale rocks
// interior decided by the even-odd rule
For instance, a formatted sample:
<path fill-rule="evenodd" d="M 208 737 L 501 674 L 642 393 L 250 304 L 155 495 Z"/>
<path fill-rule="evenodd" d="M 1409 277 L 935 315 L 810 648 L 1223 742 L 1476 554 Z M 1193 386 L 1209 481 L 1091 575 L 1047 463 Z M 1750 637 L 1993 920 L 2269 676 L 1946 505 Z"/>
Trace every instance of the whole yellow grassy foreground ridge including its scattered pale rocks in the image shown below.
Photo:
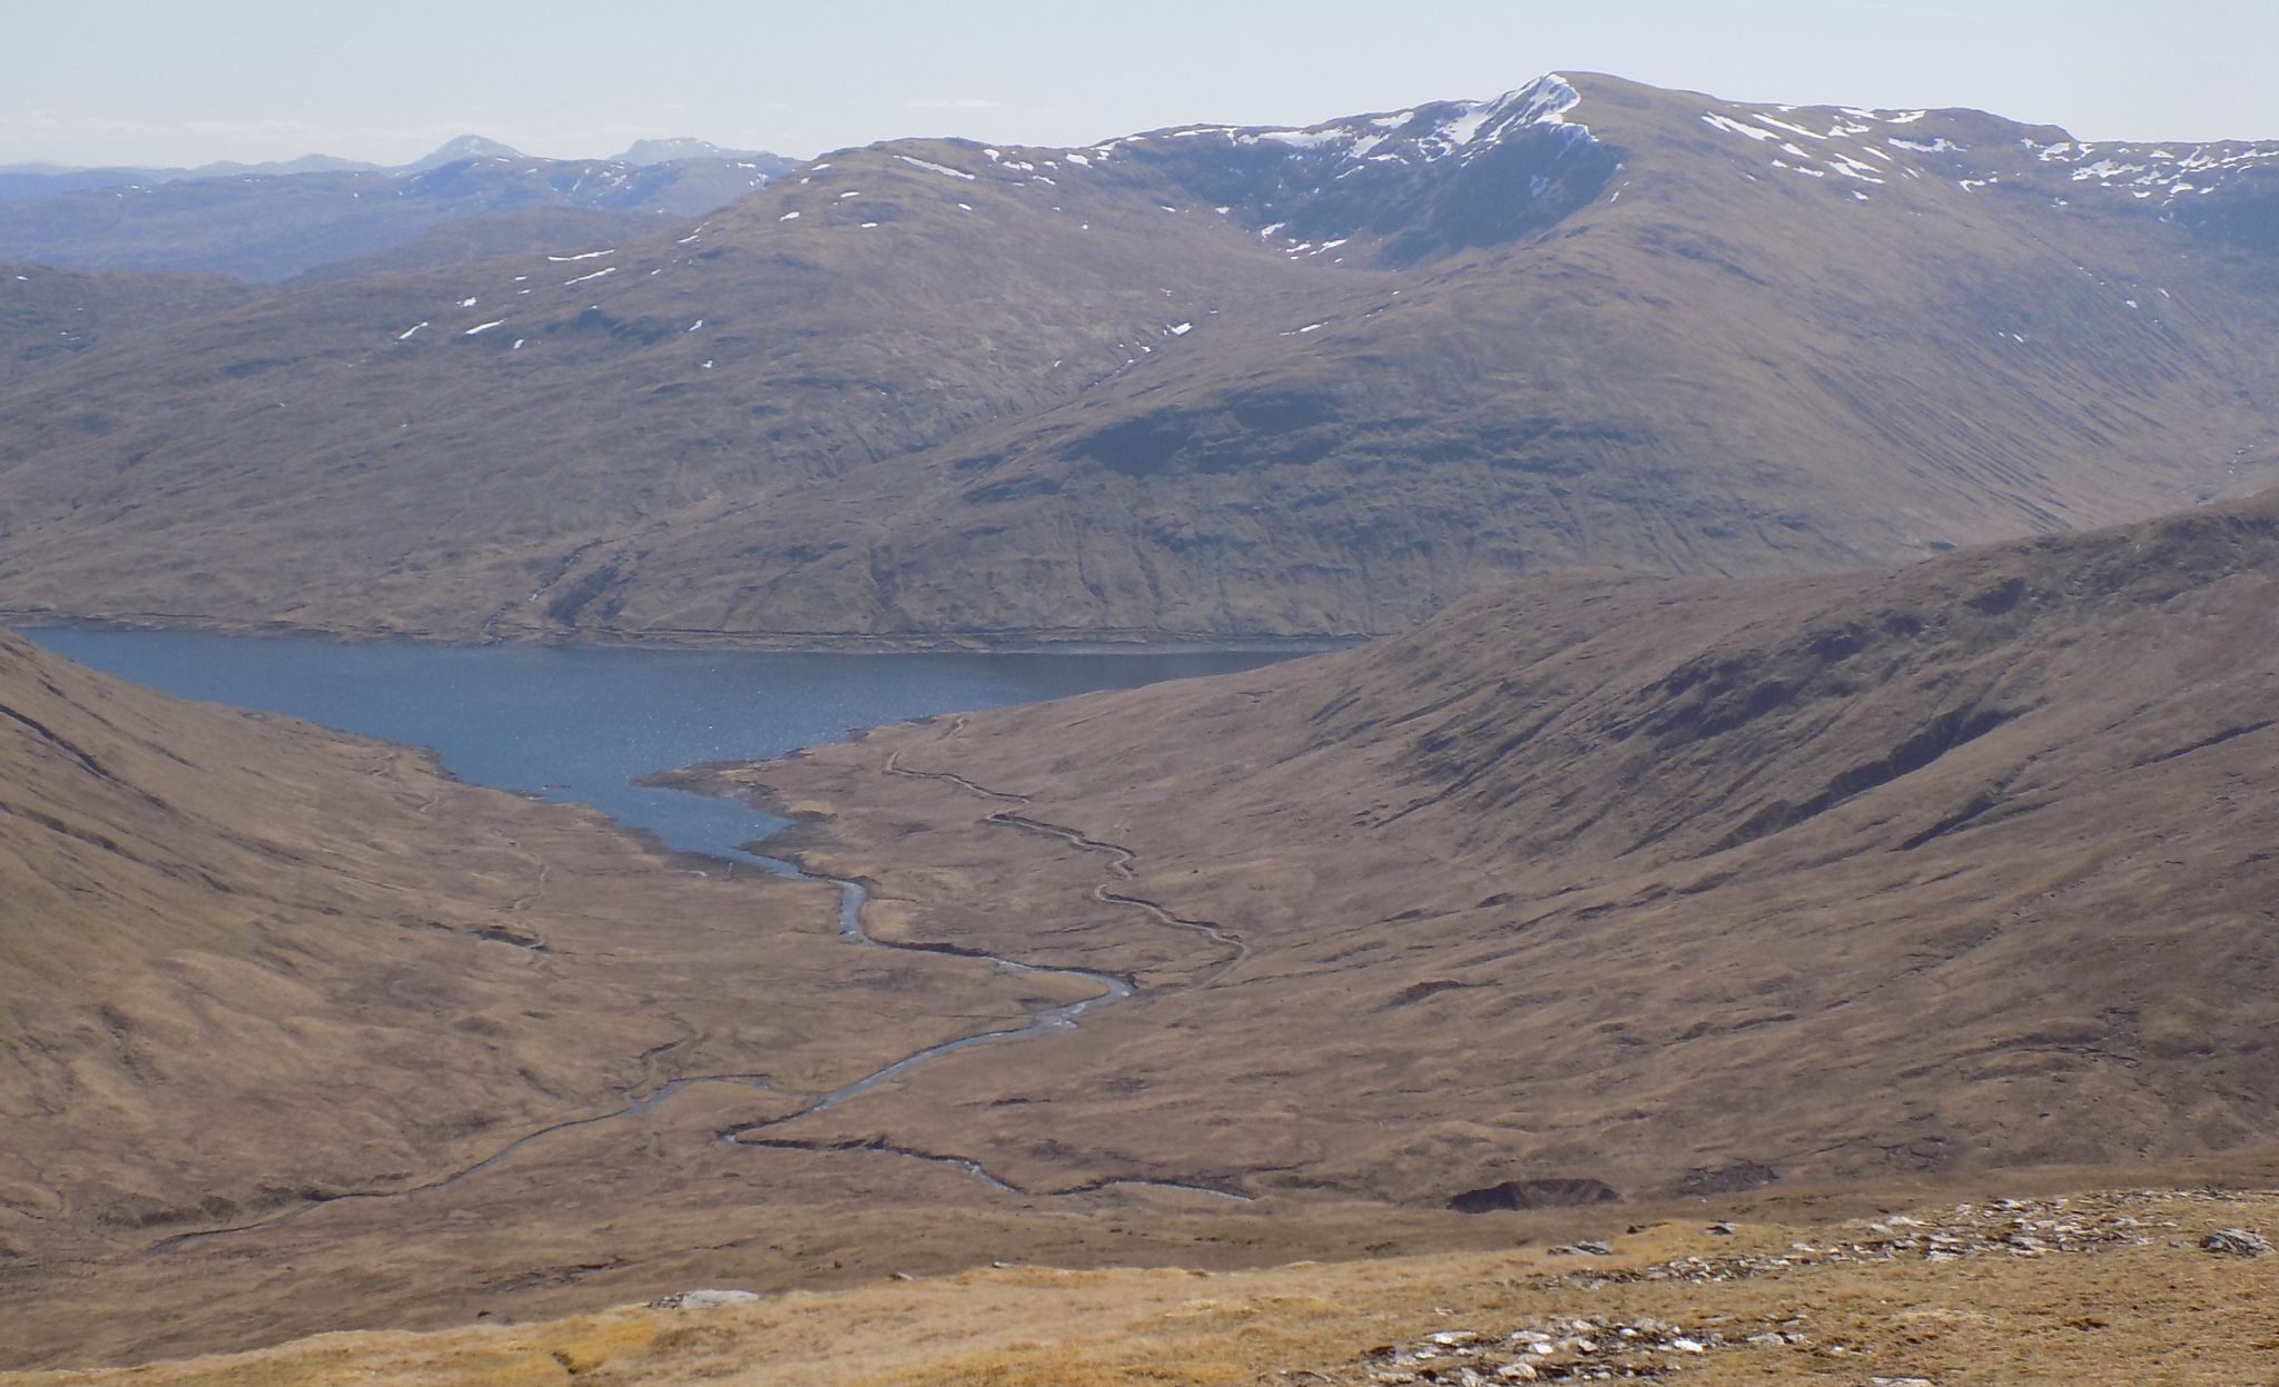
<path fill-rule="evenodd" d="M 1860 1196 L 1855 1196 L 1855 1207 Z M 1864 1214 L 1648 1214 L 1575 1244 L 1265 1271 L 1000 1266 L 800 1296 L 734 1289 L 440 1335 L 326 1335 L 269 1351 L 75 1373 L 403 1387 L 570 1380 L 1196 1387 L 1333 1382 L 1844 1380 L 2238 1382 L 2279 1330 L 2279 1257 L 2208 1250 L 2279 1196 L 2088 1189 L 1892 1198 Z M 1534 1228 L 1516 1232 L 1534 1241 Z M 1570 1234 L 1568 1234 L 1570 1237 Z M 2115 1294 L 2126 1289 L 2126 1294 Z M 2051 1305 L 2083 1307 L 2051 1314 Z M 896 1335 L 843 1341 L 850 1321 Z M 9 1387 L 50 1376 L 0 1373 Z"/>

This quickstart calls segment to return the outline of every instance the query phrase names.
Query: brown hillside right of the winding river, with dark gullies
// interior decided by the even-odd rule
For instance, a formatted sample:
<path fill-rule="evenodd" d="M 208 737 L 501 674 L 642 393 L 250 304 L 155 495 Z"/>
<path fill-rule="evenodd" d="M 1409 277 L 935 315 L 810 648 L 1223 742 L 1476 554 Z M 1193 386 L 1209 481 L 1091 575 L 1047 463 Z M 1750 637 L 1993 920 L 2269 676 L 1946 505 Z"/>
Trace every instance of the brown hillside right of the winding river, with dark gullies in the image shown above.
<path fill-rule="evenodd" d="M 1137 979 L 770 1132 L 846 1162 L 1459 1209 L 2186 1162 L 2279 1150 L 2274 651 L 2279 492 L 1538 578 L 697 779 L 807 815 L 907 938 Z"/>

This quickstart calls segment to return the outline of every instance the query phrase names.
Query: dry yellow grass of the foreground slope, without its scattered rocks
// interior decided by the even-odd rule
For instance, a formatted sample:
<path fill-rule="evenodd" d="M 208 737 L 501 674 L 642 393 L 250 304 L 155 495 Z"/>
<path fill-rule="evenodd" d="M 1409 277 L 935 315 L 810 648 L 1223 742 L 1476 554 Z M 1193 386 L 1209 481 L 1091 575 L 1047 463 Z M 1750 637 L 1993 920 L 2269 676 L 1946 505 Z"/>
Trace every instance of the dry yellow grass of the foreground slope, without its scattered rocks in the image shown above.
<path fill-rule="evenodd" d="M 0 1373 L 0 1387 L 1233 1387 L 1363 1382 L 1358 1360 L 1436 1330 L 1502 1335 L 1573 1316 L 1657 1316 L 1725 1346 L 1671 1362 L 1700 1382 L 2279 1382 L 2279 1257 L 2199 1248 L 2272 1228 L 2279 1196 L 2076 1196 L 2129 1209 L 2135 1237 L 2076 1253 L 1987 1250 L 1780 1266 L 1721 1282 L 1632 1280 L 1680 1257 L 1769 1259 L 1869 1237 L 1862 1218 L 1655 1221 L 1611 1257 L 1461 1253 L 1199 1273 L 1007 1266 L 887 1280 L 716 1310 L 611 1310 L 438 1335 L 321 1335 L 278 1348 L 87 1373 Z M 1923 1212 L 1939 1216 L 1944 1205 Z M 1614 1285 L 1595 1285 L 1614 1280 Z M 1805 1344 L 1741 1344 L 1764 1326 Z"/>

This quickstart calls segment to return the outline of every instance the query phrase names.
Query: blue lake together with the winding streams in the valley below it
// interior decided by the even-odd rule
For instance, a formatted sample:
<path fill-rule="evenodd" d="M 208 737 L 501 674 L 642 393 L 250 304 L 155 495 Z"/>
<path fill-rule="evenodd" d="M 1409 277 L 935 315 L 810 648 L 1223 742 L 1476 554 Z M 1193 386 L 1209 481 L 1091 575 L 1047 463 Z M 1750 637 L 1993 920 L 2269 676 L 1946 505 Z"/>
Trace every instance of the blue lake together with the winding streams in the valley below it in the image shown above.
<path fill-rule="evenodd" d="M 435 647 L 408 642 L 335 645 L 292 638 L 232 638 L 185 631 L 30 631 L 41 645 L 98 670 L 164 692 L 289 713 L 365 736 L 426 745 L 454 774 L 549 799 L 586 802 L 618 822 L 647 829 L 665 845 L 727 863 L 820 879 L 839 888 L 839 934 L 855 947 L 944 952 L 871 938 L 864 931 L 864 886 L 816 877 L 798 863 L 750 852 L 748 845 L 784 820 L 736 799 L 688 795 L 634 783 L 638 777 L 695 761 L 761 761 L 804 745 L 839 740 L 857 727 L 905 717 L 1062 697 L 1098 688 L 1135 688 L 1160 679 L 1249 670 L 1279 658 L 1267 651 L 1208 654 L 775 654 L 583 647 Z M 1048 834 L 1080 850 L 1110 856 L 1108 870 L 1130 879 L 1130 850 L 1087 838 L 1076 829 L 1035 820 L 1026 799 L 975 786 L 962 777 L 889 763 L 893 774 L 944 779 L 973 795 L 1003 802 L 991 815 L 1007 829 Z M 1169 909 L 1112 891 L 1105 904 L 1149 913 L 1176 929 L 1208 936 L 1226 952 L 1217 972 L 1242 959 L 1240 938 L 1208 920 L 1185 920 Z M 964 1034 L 816 1095 L 789 1114 L 720 1132 L 722 1141 L 777 1150 L 850 1150 L 777 1136 L 779 1127 L 857 1098 L 912 1070 L 975 1045 L 1023 1041 L 1073 1027 L 1078 1016 L 1112 1007 L 1135 993 L 1128 977 L 1078 968 L 1039 968 L 1019 959 L 985 957 L 1012 972 L 1078 979 L 1094 995 L 1030 1013 L 1019 1025 Z M 643 1057 L 647 1070 L 654 1054 Z M 479 1162 L 444 1175 L 385 1189 L 315 1196 L 269 1216 L 228 1228 L 185 1232 L 153 1244 L 166 1253 L 194 1241 L 280 1228 L 315 1209 L 351 1200 L 399 1200 L 447 1189 L 488 1171 L 526 1146 L 597 1123 L 647 1111 L 693 1084 L 768 1086 L 766 1075 L 679 1075 L 643 1080 L 624 1102 L 524 1132 Z M 859 1150 L 959 1168 L 989 1189 L 1016 1196 L 1071 1196 L 1110 1187 L 1149 1187 L 1242 1200 L 1240 1191 L 1181 1180 L 1108 1177 L 1073 1189 L 1032 1191 L 964 1155 L 921 1152 L 884 1143 Z"/>

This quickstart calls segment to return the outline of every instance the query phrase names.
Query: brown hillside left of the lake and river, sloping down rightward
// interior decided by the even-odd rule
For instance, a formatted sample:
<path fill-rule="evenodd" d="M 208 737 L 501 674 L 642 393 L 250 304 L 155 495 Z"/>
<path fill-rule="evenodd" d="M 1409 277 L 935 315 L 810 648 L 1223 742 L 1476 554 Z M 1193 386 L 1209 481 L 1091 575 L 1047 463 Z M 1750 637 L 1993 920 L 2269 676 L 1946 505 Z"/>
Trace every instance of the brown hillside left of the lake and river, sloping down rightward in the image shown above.
<path fill-rule="evenodd" d="M 175 1234 L 433 1189 L 675 1091 L 795 1102 L 1026 1013 L 975 961 L 850 961 L 825 886 L 691 868 L 0 633 L 0 1357 L 96 1341 L 89 1278 Z"/>

